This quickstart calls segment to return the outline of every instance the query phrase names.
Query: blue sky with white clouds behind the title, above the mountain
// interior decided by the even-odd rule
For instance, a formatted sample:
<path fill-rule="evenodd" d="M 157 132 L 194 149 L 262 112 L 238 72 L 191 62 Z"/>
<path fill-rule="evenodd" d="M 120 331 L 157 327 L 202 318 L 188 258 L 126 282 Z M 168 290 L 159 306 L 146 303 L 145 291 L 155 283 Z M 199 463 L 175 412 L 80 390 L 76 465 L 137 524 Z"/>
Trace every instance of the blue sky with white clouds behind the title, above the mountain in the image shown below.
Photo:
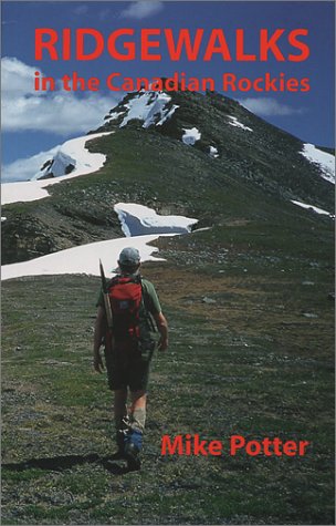
<path fill-rule="evenodd" d="M 85 134 L 103 123 L 104 115 L 124 93 L 113 93 L 105 86 L 113 72 L 123 76 L 169 76 L 186 72 L 187 76 L 212 76 L 221 92 L 220 79 L 230 72 L 238 76 L 254 79 L 270 72 L 273 76 L 309 78 L 308 92 L 227 92 L 251 111 L 305 142 L 334 146 L 334 2 L 324 1 L 9 1 L 1 2 L 2 14 L 2 162 L 9 165 L 61 144 L 66 138 Z M 305 28 L 305 40 L 311 55 L 304 62 L 224 62 L 213 56 L 210 62 L 201 58 L 196 62 L 172 62 L 160 38 L 162 60 L 116 61 L 104 53 L 94 61 L 52 61 L 44 55 L 34 59 L 35 28 L 94 28 L 105 37 L 119 28 L 136 31 L 137 52 L 141 28 L 171 28 L 178 31 L 188 28 L 193 32 L 204 29 L 224 30 L 230 50 L 234 52 L 235 30 L 245 32 L 246 50 L 258 51 L 259 31 L 284 28 L 286 32 Z M 281 48 L 290 48 L 284 41 Z M 251 51 L 250 51 L 251 50 Z M 60 80 L 76 71 L 88 79 L 101 80 L 98 92 L 36 93 L 33 89 L 34 71 Z M 248 101 L 249 100 L 249 101 Z"/>

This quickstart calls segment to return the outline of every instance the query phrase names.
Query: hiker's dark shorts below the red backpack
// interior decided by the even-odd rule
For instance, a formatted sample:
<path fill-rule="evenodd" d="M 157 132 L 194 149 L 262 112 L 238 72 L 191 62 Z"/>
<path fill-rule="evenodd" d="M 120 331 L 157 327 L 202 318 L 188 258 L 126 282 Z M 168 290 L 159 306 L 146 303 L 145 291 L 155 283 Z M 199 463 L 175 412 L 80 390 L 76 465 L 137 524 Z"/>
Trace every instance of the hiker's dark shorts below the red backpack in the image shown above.
<path fill-rule="evenodd" d="M 112 352 L 106 352 L 108 386 L 112 391 L 129 388 L 146 391 L 153 350 L 140 351 L 137 342 L 116 342 Z"/>

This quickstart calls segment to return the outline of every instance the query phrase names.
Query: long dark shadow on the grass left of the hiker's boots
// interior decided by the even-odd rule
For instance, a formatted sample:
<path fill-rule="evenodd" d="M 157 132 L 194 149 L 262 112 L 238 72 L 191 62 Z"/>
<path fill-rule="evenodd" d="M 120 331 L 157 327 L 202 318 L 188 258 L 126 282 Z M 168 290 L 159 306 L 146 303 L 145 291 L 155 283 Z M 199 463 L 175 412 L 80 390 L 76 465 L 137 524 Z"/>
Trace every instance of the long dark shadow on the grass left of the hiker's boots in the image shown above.
<path fill-rule="evenodd" d="M 101 457 L 97 454 L 90 455 L 66 455 L 66 456 L 54 456 L 48 458 L 31 458 L 24 462 L 19 462 L 17 464 L 2 464 L 2 470 L 8 470 L 11 472 L 22 472 L 25 470 L 46 470 L 46 471 L 57 471 L 62 472 L 64 470 L 70 470 L 71 467 L 78 466 L 82 464 L 101 464 L 105 470 L 114 475 L 123 475 L 130 472 L 127 466 L 123 466 L 113 461 L 120 461 L 120 457 L 117 455 L 112 455 L 109 457 Z"/>

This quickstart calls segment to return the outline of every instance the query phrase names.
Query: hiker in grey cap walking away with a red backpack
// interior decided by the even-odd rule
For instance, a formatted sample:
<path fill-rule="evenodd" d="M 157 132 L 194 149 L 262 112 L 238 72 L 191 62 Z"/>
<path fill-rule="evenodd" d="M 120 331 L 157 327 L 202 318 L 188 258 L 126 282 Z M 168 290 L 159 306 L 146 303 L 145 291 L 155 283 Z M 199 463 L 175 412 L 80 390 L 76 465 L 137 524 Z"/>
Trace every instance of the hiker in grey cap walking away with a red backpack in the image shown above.
<path fill-rule="evenodd" d="M 146 389 L 149 364 L 156 348 L 168 347 L 168 324 L 156 290 L 141 278 L 140 255 L 136 248 L 124 248 L 118 259 L 119 275 L 107 282 L 112 307 L 112 337 L 107 333 L 104 293 L 97 301 L 94 331 L 94 369 L 104 369 L 99 353 L 104 342 L 108 386 L 114 391 L 114 417 L 117 454 L 126 458 L 130 470 L 140 468 L 139 453 L 146 421 Z M 158 334 L 159 332 L 159 341 Z M 130 410 L 127 413 L 128 390 Z"/>

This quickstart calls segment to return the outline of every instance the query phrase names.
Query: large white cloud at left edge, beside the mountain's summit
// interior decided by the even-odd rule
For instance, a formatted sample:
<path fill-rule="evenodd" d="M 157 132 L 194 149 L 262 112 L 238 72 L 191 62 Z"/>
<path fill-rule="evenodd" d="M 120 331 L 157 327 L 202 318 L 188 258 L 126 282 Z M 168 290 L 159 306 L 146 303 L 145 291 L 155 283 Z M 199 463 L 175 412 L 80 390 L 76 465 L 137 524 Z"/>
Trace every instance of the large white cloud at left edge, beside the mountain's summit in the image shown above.
<path fill-rule="evenodd" d="M 63 90 L 36 92 L 35 71 L 40 70 L 14 58 L 1 60 L 4 132 L 48 131 L 63 137 L 86 133 L 102 125 L 104 116 L 117 102 L 98 92 L 90 92 L 81 97 Z"/>

